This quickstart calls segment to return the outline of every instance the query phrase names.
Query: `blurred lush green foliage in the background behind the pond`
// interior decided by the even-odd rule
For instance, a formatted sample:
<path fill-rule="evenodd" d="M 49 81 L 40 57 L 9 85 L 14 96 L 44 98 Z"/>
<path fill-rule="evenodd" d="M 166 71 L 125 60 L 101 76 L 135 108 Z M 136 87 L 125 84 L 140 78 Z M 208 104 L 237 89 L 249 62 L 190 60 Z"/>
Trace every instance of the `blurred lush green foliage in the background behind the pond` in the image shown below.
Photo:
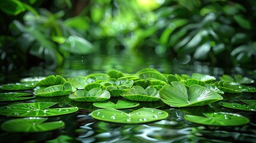
<path fill-rule="evenodd" d="M 119 51 L 255 67 L 255 18 L 250 0 L 1 1 L 1 70 Z"/>

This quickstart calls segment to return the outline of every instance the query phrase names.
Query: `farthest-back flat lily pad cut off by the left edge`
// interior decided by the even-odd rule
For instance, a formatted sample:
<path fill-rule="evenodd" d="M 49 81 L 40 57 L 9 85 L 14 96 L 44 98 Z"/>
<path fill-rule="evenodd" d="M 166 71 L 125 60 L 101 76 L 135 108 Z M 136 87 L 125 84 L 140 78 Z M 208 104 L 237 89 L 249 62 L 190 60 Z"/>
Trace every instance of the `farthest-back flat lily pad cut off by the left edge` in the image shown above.
<path fill-rule="evenodd" d="M 0 90 L 7 91 L 24 91 L 35 88 L 36 85 L 34 83 L 8 83 L 5 85 L 0 85 Z"/>

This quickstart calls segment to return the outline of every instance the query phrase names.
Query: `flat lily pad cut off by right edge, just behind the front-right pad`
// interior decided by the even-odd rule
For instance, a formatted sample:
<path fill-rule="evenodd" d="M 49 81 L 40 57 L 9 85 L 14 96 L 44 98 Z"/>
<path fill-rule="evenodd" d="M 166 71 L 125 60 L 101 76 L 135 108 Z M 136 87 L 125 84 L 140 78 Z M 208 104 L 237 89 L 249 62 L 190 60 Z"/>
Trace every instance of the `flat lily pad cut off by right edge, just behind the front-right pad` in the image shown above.
<path fill-rule="evenodd" d="M 249 101 L 249 102 L 252 102 L 252 101 Z M 243 103 L 235 103 L 235 102 L 219 102 L 218 104 L 223 107 L 233 108 L 236 110 L 256 111 L 255 100 L 254 100 L 254 104 L 247 104 L 247 103 L 243 104 Z"/>

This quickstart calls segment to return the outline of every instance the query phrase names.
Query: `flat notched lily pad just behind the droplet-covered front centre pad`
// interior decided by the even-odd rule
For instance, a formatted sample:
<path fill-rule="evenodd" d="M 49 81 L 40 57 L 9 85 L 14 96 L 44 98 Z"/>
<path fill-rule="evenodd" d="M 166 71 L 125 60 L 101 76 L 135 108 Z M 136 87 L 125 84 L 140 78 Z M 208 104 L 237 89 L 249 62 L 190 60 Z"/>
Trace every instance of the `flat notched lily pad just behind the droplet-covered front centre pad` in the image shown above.
<path fill-rule="evenodd" d="M 108 102 L 94 102 L 93 104 L 95 107 L 98 108 L 116 108 L 116 109 L 122 109 L 122 108 L 133 108 L 140 105 L 138 102 L 134 101 L 126 101 L 126 100 L 118 100 L 118 102 L 113 103 L 111 101 Z"/>

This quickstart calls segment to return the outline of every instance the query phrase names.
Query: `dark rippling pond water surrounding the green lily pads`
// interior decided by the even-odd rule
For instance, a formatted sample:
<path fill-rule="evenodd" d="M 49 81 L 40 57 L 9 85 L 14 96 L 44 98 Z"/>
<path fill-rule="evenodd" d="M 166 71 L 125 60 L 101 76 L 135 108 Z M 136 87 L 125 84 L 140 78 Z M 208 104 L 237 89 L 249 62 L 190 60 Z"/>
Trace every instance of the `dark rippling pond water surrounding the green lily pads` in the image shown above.
<path fill-rule="evenodd" d="M 88 76 L 94 73 L 107 73 L 109 70 L 133 74 L 145 68 L 156 69 L 165 75 L 202 73 L 216 77 L 216 81 L 223 74 L 231 76 L 241 74 L 242 76 L 256 79 L 255 71 L 238 67 L 223 69 L 212 67 L 211 63 L 201 63 L 198 61 L 192 63 L 187 59 L 168 59 L 166 57 L 158 57 L 157 55 L 109 53 L 106 55 L 71 56 L 65 60 L 63 67 L 55 71 L 46 70 L 42 67 L 32 67 L 30 70 L 22 71 L 18 74 L 5 73 L 1 77 L 1 84 L 20 82 L 25 77 L 46 77 L 57 74 L 65 79 L 72 79 L 77 76 Z M 250 86 L 255 87 L 255 83 Z M 0 90 L 0 92 L 26 92 L 31 94 L 33 89 L 22 91 Z M 256 100 L 255 93 L 223 94 L 222 96 L 223 101 L 229 102 Z M 117 102 L 118 100 L 124 100 L 124 97 L 110 99 L 112 102 Z M 0 105 L 1 107 L 6 105 L 11 107 L 13 104 L 31 102 L 58 102 L 58 104 L 53 105 L 54 108 L 78 107 L 79 110 L 69 114 L 48 117 L 48 122 L 59 122 L 62 120 L 65 125 L 60 129 L 36 133 L 7 132 L 1 129 L 0 142 L 256 142 L 255 111 L 226 108 L 218 104 L 220 101 L 203 106 L 180 108 L 171 107 L 162 101 L 140 102 L 138 107 L 121 109 L 121 111 L 131 113 L 131 111 L 138 108 L 146 107 L 157 108 L 168 113 L 168 117 L 165 119 L 139 124 L 113 123 L 94 119 L 91 113 L 99 108 L 95 107 L 93 102 L 72 101 L 69 95 L 61 97 L 36 97 L 32 100 L 5 101 L 0 102 Z M 192 123 L 185 119 L 186 114 L 203 116 L 203 113 L 217 112 L 239 114 L 247 117 L 249 123 L 238 126 L 213 126 Z M 21 118 L 1 116 L 1 125 L 11 119 Z M 22 123 L 18 122 L 15 125 L 16 128 L 21 128 Z"/>

